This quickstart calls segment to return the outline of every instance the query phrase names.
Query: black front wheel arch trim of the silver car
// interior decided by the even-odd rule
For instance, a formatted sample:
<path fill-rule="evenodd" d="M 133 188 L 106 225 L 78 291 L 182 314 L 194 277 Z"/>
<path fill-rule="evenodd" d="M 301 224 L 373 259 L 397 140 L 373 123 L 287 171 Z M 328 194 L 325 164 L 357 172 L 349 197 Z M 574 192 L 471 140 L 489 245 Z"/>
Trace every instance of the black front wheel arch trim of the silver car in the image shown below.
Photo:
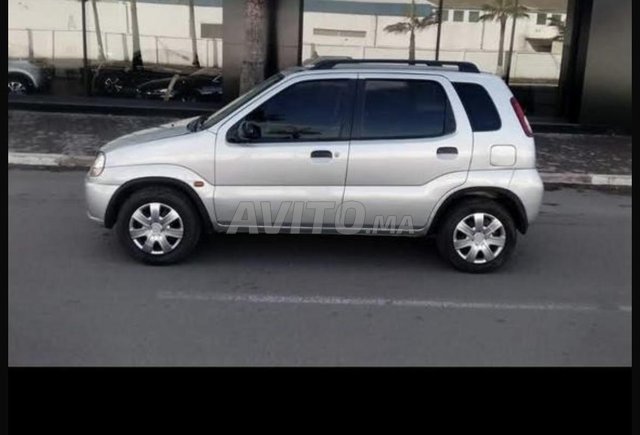
<path fill-rule="evenodd" d="M 118 213 L 122 204 L 129 198 L 134 192 L 143 189 L 145 187 L 169 187 L 175 189 L 181 193 L 184 193 L 189 199 L 191 204 L 196 209 L 198 216 L 202 222 L 202 226 L 207 233 L 213 232 L 213 224 L 209 218 L 209 213 L 206 207 L 202 203 L 202 199 L 197 193 L 191 189 L 191 187 L 184 181 L 177 180 L 169 177 L 143 177 L 135 180 L 130 180 L 124 183 L 115 191 L 109 204 L 104 217 L 104 226 L 106 228 L 113 228 L 118 218 Z"/>

